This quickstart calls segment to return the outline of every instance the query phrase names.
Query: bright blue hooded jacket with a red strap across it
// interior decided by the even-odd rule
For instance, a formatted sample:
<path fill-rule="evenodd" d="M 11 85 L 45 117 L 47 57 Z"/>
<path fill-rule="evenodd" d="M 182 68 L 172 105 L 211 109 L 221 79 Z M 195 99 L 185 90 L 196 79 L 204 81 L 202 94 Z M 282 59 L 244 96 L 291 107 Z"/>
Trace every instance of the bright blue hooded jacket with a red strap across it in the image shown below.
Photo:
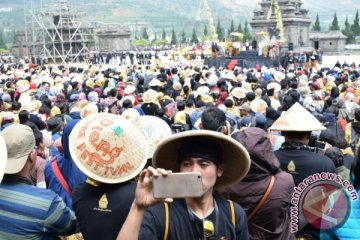
<path fill-rule="evenodd" d="M 79 170 L 79 168 L 72 160 L 69 148 L 70 133 L 78 122 L 79 120 L 71 120 L 66 124 L 61 138 L 64 152 L 63 154 L 55 156 L 60 172 L 69 185 L 70 189 L 74 189 L 77 184 L 83 183 L 86 180 L 86 175 Z M 45 181 L 48 188 L 62 197 L 66 205 L 72 209 L 72 198 L 63 188 L 58 178 L 55 176 L 51 161 L 48 161 L 45 166 Z"/>

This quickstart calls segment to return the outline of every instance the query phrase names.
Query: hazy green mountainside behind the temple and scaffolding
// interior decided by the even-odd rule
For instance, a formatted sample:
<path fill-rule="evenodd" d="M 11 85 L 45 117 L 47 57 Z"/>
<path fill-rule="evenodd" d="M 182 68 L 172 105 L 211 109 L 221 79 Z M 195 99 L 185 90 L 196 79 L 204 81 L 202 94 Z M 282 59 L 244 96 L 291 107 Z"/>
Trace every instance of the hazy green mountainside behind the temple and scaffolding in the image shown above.
<path fill-rule="evenodd" d="M 183 29 L 190 35 L 193 27 L 202 33 L 208 24 L 205 2 L 208 3 L 215 24 L 220 19 L 222 27 L 228 29 L 233 19 L 237 27 L 239 21 L 250 21 L 253 10 L 259 8 L 261 0 L 68 0 L 71 8 L 77 12 L 86 12 L 85 21 L 93 26 L 100 23 L 128 25 L 132 29 L 146 27 L 159 35 L 165 29 L 167 35 L 174 28 L 180 33 Z M 283 1 L 283 0 L 279 0 Z M 328 29 L 336 11 L 342 28 L 346 16 L 352 23 L 360 0 L 342 0 L 334 4 L 333 0 L 304 0 L 303 7 L 309 10 L 315 22 L 319 13 L 322 29 Z M 0 28 L 8 32 L 24 28 L 24 9 L 39 9 L 52 6 L 54 0 L 0 0 Z M 120 27 L 120 26 L 119 26 Z"/>

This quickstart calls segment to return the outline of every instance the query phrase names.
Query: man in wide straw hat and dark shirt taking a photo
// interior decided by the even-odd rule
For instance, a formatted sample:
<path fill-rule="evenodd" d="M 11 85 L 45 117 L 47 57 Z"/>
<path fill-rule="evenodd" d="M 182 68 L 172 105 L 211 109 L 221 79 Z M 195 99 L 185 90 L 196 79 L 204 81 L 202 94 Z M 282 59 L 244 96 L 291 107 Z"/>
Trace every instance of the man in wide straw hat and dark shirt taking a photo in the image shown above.
<path fill-rule="evenodd" d="M 240 143 L 214 131 L 182 132 L 158 146 L 153 165 L 157 169 L 148 167 L 140 174 L 118 239 L 249 239 L 244 210 L 215 192 L 247 174 L 250 158 Z M 203 194 L 154 198 L 153 179 L 172 172 L 199 172 Z"/>

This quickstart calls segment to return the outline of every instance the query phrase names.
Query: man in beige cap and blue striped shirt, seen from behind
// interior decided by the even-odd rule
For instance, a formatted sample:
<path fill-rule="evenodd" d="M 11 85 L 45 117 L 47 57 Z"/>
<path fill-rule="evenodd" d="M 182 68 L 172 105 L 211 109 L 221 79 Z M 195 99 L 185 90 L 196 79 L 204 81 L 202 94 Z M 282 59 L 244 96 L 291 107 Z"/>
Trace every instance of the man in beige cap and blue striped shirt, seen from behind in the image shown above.
<path fill-rule="evenodd" d="M 71 209 L 30 179 L 37 156 L 31 128 L 17 124 L 1 134 L 8 154 L 0 184 L 0 239 L 57 239 L 74 233 L 76 217 Z"/>

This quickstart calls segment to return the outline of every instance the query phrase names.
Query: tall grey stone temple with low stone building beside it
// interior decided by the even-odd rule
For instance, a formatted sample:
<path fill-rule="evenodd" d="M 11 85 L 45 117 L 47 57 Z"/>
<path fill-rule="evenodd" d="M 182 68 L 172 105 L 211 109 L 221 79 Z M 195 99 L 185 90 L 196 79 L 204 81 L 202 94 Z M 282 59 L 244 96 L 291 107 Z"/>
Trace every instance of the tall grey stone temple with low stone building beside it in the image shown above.
<path fill-rule="evenodd" d="M 323 52 L 341 52 L 345 48 L 346 37 L 340 31 L 310 32 L 312 20 L 308 10 L 302 7 L 302 0 L 260 0 L 260 9 L 254 11 L 250 22 L 253 36 L 261 42 L 264 33 L 270 38 L 281 38 L 281 48 L 293 51 L 311 51 L 321 49 Z M 277 14 L 277 6 L 281 18 Z M 281 24 L 279 24 L 279 20 Z M 282 25 L 282 30 L 279 26 Z"/>

